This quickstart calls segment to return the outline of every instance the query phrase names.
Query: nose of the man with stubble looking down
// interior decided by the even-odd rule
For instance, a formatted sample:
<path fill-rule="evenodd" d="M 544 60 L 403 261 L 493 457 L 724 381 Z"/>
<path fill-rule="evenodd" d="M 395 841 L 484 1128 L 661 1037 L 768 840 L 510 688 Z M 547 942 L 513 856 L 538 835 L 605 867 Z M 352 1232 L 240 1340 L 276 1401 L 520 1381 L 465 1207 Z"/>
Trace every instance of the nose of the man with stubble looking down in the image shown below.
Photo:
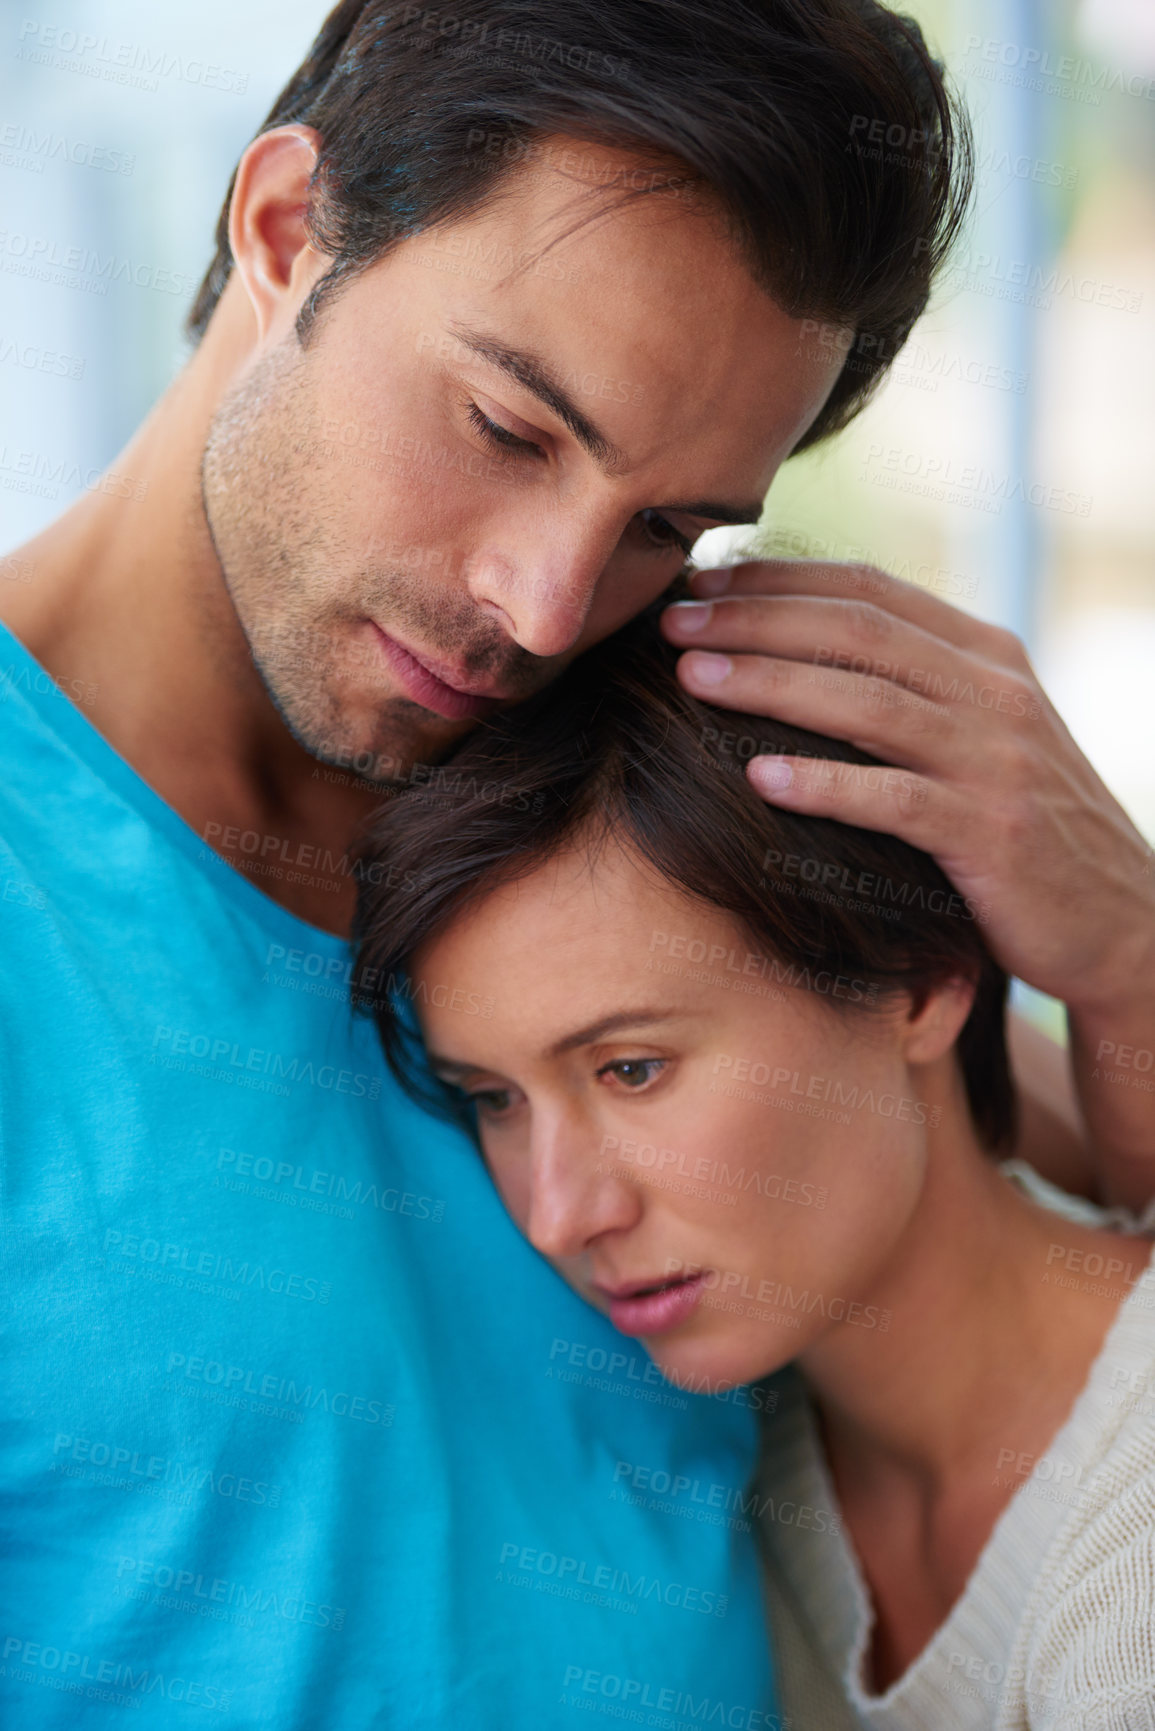
<path fill-rule="evenodd" d="M 509 635 L 535 656 L 566 654 L 580 640 L 620 523 L 542 516 L 500 552 L 471 561 L 469 594 L 502 615 Z"/>

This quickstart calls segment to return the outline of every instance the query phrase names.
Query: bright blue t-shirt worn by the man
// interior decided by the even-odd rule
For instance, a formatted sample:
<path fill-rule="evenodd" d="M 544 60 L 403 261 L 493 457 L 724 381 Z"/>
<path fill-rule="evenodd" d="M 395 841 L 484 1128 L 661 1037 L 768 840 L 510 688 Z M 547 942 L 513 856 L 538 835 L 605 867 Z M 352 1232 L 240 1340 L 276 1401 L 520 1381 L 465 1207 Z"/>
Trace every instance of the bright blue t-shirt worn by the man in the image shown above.
<path fill-rule="evenodd" d="M 391 1085 L 258 888 L 348 867 L 246 879 L 2 628 L 0 741 L 5 1731 L 774 1726 L 757 1390 L 663 1383 Z"/>

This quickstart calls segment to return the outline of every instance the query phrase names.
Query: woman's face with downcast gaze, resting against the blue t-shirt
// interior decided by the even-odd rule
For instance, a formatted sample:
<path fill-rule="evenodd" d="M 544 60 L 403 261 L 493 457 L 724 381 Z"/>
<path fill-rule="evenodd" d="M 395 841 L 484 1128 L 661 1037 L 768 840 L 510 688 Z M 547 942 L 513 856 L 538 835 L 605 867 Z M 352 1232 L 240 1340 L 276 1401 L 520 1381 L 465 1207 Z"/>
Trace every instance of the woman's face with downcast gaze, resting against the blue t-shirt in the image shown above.
<path fill-rule="evenodd" d="M 494 891 L 412 975 L 513 1219 L 667 1378 L 746 1383 L 885 1326 L 937 1110 L 907 999 L 776 971 L 613 843 Z"/>

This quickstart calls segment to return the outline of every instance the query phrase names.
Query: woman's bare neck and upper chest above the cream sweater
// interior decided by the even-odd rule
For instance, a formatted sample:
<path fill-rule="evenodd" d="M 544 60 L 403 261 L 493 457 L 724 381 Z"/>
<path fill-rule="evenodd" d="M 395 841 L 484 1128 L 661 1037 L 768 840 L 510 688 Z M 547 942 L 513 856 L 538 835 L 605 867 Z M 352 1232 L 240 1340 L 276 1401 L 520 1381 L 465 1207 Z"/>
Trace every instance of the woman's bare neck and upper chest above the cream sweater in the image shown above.
<path fill-rule="evenodd" d="M 874 1599 L 876 1688 L 944 1620 L 1101 1350 L 1126 1277 L 1056 1284 L 1091 1250 L 1119 1257 L 1120 1241 L 1020 1196 L 949 1082 L 909 1229 L 855 1295 L 887 1331 L 831 1329 L 800 1359 Z M 1146 1264 L 1126 1241 L 1122 1258 L 1132 1279 Z"/>

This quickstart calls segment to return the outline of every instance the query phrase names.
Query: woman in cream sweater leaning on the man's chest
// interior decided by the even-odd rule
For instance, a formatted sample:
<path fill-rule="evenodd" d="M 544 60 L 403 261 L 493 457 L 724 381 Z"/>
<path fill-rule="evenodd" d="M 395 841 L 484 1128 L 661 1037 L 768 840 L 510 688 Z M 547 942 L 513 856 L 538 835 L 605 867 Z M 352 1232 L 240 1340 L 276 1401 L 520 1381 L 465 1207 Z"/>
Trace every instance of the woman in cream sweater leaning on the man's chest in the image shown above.
<path fill-rule="evenodd" d="M 992 1158 L 982 911 L 741 765 L 880 770 L 672 665 L 641 621 L 386 808 L 388 1058 L 672 1383 L 797 1366 L 753 1506 L 803 1726 L 1155 1726 L 1150 1246 Z"/>

